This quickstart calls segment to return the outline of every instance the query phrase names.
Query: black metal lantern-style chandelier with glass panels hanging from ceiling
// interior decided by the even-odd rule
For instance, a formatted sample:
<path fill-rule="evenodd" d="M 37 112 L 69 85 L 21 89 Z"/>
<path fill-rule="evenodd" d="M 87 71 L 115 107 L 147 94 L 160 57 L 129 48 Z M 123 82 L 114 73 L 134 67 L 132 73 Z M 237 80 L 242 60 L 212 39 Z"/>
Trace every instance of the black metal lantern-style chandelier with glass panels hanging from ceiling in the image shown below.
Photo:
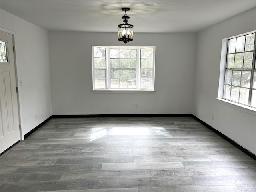
<path fill-rule="evenodd" d="M 126 11 L 129 11 L 130 8 L 122 8 L 122 11 L 125 11 L 124 23 L 118 25 L 118 41 L 122 41 L 124 43 L 128 43 L 129 41 L 133 41 L 133 25 L 128 24 L 129 16 L 127 16 Z"/>

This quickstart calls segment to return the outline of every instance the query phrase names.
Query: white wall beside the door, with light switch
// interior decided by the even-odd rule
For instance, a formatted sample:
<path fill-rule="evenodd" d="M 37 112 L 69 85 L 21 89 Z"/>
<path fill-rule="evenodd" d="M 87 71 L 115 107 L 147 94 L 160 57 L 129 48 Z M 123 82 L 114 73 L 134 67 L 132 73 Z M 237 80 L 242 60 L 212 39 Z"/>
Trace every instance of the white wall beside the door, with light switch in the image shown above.
<path fill-rule="evenodd" d="M 0 26 L 15 32 L 21 125 L 26 134 L 52 115 L 48 31 L 2 9 Z"/>

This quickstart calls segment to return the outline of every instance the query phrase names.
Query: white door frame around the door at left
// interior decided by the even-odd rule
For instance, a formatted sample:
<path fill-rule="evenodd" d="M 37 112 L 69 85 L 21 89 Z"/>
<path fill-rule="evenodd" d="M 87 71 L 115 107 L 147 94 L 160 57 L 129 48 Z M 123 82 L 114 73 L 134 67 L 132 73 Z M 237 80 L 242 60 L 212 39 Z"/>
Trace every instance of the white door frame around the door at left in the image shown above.
<path fill-rule="evenodd" d="M 7 33 L 12 36 L 12 44 L 15 47 L 15 31 L 4 28 L 0 26 L 0 32 Z M 12 50 L 12 48 L 9 47 L 9 50 Z M 15 68 L 15 81 L 16 81 L 16 87 L 18 87 L 18 93 L 17 93 L 17 102 L 18 102 L 18 117 L 19 117 L 19 125 L 21 126 L 21 111 L 20 111 L 20 89 L 18 84 L 18 72 L 17 72 L 17 62 L 16 62 L 16 50 L 14 52 L 14 68 Z M 24 130 L 21 126 L 20 128 L 20 140 L 24 140 Z"/>

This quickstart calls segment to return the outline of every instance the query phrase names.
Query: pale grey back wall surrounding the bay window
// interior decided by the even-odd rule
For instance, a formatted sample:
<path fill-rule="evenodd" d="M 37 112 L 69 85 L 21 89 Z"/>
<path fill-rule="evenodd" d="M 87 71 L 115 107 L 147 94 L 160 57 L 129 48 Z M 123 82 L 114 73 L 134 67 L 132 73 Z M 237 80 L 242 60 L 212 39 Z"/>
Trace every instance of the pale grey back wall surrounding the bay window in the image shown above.
<path fill-rule="evenodd" d="M 192 114 L 196 34 L 49 32 L 52 113 Z M 156 46 L 155 93 L 93 93 L 92 45 Z M 135 108 L 138 104 L 138 108 Z"/>

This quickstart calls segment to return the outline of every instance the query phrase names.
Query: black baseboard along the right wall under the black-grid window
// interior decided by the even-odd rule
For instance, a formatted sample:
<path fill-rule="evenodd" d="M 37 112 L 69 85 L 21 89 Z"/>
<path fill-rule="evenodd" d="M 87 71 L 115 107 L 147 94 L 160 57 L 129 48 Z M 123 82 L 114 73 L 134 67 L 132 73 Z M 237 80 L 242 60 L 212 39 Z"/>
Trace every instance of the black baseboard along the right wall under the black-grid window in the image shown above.
<path fill-rule="evenodd" d="M 215 128 L 213 128 L 212 126 L 208 125 L 206 122 L 200 120 L 199 118 L 197 118 L 196 116 L 192 115 L 192 117 L 197 120 L 198 122 L 202 123 L 204 126 L 206 126 L 208 129 L 212 130 L 214 133 L 218 134 L 219 136 L 221 136 L 222 138 L 224 138 L 226 141 L 230 142 L 230 144 L 234 145 L 236 148 L 240 149 L 242 152 L 244 152 L 245 154 L 247 154 L 248 156 L 250 156 L 251 158 L 253 158 L 254 160 L 256 160 L 256 155 L 252 152 L 250 152 L 249 150 L 247 150 L 246 148 L 244 148 L 243 146 L 241 146 L 240 144 L 238 144 L 237 142 L 235 142 L 234 140 L 230 139 L 228 136 L 224 135 L 222 132 L 216 130 Z"/>

